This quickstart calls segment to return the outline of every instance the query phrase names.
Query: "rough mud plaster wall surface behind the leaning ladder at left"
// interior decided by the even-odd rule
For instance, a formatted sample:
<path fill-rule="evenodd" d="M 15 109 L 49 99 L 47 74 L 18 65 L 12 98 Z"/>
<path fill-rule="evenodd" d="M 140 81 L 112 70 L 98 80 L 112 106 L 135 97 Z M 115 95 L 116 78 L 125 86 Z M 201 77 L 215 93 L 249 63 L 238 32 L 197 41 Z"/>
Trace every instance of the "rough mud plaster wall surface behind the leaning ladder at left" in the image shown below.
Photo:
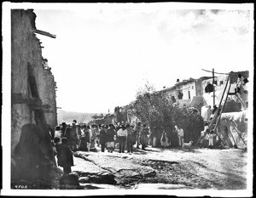
<path fill-rule="evenodd" d="M 55 82 L 50 71 L 44 69 L 39 39 L 32 32 L 36 14 L 32 10 L 13 9 L 11 11 L 11 93 L 21 93 L 24 99 L 31 98 L 27 82 L 27 64 L 34 67 L 39 98 L 43 105 L 50 105 L 54 113 L 45 113 L 51 126 L 57 124 Z M 11 107 L 11 149 L 20 139 L 20 129 L 26 124 L 35 123 L 30 107 L 26 104 L 12 104 Z"/>

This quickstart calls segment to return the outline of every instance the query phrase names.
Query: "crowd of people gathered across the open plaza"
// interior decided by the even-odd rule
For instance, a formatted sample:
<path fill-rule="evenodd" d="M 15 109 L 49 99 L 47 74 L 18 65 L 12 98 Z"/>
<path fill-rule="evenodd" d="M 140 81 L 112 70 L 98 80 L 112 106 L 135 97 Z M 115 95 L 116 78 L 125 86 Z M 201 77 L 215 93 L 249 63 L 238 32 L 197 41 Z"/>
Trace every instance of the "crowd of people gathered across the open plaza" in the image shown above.
<path fill-rule="evenodd" d="M 178 137 L 178 144 L 183 147 L 183 129 L 176 126 L 175 132 Z M 96 151 L 96 147 L 102 152 L 108 150 L 112 153 L 115 148 L 119 153 L 132 153 L 134 148 L 146 150 L 151 144 L 156 145 L 154 130 L 142 122 L 136 126 L 130 123 L 117 123 L 116 125 L 79 125 L 73 120 L 71 125 L 62 122 L 50 133 L 53 139 L 53 148 L 57 158 L 56 163 L 63 167 L 64 173 L 71 173 L 73 166 L 73 152 Z M 160 145 L 164 148 L 171 146 L 171 138 L 165 130 L 161 131 Z"/>

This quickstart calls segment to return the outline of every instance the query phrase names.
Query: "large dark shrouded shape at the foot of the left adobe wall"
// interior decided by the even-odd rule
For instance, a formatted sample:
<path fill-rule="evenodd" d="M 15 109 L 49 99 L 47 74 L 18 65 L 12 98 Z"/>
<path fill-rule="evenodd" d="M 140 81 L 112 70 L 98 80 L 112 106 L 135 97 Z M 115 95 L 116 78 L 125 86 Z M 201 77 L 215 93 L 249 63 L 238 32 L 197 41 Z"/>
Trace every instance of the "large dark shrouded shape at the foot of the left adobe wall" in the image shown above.
<path fill-rule="evenodd" d="M 50 183 L 49 167 L 52 161 L 40 139 L 40 129 L 36 124 L 29 123 L 21 127 L 20 141 L 12 156 L 13 181 L 23 179 L 31 182 L 39 179 Z"/>

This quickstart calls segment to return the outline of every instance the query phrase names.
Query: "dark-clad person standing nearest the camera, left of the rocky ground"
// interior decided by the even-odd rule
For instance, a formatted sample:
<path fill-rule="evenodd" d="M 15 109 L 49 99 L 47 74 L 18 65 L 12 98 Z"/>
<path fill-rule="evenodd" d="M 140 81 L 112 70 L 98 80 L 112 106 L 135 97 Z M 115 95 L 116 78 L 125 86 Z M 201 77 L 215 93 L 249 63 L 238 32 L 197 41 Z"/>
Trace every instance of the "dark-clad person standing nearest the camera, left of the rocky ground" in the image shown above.
<path fill-rule="evenodd" d="M 71 173 L 71 167 L 73 167 L 73 152 L 67 145 L 67 139 L 61 139 L 61 144 L 56 147 L 58 165 L 63 167 L 64 174 Z"/>

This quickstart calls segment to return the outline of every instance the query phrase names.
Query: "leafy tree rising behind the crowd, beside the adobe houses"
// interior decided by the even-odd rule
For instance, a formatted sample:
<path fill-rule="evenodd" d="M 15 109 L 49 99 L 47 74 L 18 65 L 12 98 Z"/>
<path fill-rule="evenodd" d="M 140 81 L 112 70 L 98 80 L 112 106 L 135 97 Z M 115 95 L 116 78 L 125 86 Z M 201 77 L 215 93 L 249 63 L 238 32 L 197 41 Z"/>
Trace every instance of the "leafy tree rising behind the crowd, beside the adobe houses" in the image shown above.
<path fill-rule="evenodd" d="M 136 99 L 133 105 L 136 116 L 150 128 L 161 128 L 157 131 L 158 139 L 164 129 L 170 135 L 175 125 L 183 127 L 185 142 L 196 142 L 199 138 L 203 130 L 203 119 L 195 110 L 174 105 L 170 97 L 161 91 L 156 92 L 148 82 L 137 91 Z"/>

